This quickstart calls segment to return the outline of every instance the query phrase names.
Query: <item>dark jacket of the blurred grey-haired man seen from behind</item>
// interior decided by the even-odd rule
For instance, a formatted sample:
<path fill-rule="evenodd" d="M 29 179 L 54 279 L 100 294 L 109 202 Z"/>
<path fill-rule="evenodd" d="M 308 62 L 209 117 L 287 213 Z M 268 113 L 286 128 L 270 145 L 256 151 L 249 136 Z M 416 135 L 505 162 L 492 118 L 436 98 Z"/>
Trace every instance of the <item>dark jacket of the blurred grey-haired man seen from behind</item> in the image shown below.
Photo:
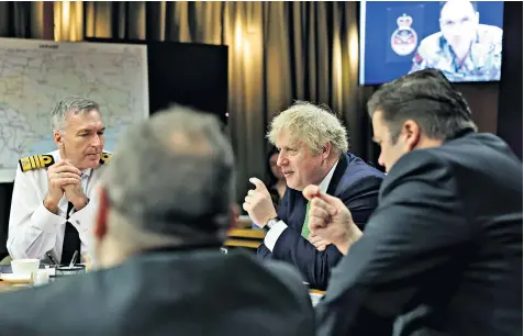
<path fill-rule="evenodd" d="M 0 335 L 314 335 L 300 276 L 216 251 L 154 251 L 0 294 Z"/>

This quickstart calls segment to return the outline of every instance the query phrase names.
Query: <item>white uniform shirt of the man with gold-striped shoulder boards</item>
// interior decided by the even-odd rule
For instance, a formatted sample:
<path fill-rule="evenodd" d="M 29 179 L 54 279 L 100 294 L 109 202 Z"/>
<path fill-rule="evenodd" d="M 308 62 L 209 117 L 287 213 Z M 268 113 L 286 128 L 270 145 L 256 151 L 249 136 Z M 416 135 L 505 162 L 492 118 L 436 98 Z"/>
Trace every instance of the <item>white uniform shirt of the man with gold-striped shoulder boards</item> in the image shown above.
<path fill-rule="evenodd" d="M 60 161 L 59 150 L 48 154 L 53 155 L 55 163 Z M 80 211 L 73 209 L 69 215 L 68 221 L 78 231 L 81 240 L 80 253 L 87 253 L 89 248 L 97 206 L 96 184 L 102 170 L 103 166 L 82 170 L 81 187 L 89 198 L 89 203 Z M 68 201 L 64 195 L 58 202 L 58 213 L 49 212 L 44 206 L 47 190 L 46 168 L 26 172 L 22 172 L 20 167 L 16 168 L 8 236 L 8 250 L 13 259 L 43 259 L 49 251 L 57 262 L 62 262 Z"/>

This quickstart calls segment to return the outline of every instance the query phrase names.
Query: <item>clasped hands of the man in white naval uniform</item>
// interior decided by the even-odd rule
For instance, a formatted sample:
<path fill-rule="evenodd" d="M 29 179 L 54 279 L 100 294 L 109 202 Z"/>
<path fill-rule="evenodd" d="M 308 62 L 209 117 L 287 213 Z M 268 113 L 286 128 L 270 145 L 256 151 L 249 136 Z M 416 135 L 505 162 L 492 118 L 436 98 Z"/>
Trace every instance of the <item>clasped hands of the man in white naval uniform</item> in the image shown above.
<path fill-rule="evenodd" d="M 80 170 L 74 167 L 69 161 L 62 160 L 47 169 L 47 194 L 44 199 L 44 205 L 56 213 L 58 202 L 64 195 L 64 186 L 77 184 L 81 182 Z"/>

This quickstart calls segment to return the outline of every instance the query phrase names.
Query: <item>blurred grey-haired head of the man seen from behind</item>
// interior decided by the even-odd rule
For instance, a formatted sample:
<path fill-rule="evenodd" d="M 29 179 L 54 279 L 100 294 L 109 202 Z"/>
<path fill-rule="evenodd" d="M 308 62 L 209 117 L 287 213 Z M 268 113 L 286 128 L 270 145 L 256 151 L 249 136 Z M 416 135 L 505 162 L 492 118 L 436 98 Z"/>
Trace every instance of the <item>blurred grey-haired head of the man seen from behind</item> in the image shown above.
<path fill-rule="evenodd" d="M 130 126 L 101 182 L 111 208 L 135 228 L 190 244 L 226 238 L 234 156 L 211 114 L 172 107 Z"/>

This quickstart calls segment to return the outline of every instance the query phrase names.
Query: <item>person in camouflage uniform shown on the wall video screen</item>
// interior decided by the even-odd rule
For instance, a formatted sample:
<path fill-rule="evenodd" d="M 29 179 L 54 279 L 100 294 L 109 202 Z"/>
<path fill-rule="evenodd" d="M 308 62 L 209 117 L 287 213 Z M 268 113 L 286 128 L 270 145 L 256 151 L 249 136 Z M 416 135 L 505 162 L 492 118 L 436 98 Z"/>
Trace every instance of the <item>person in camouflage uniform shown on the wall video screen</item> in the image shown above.
<path fill-rule="evenodd" d="M 500 79 L 502 30 L 479 24 L 476 5 L 449 0 L 441 8 L 441 32 L 422 40 L 411 72 L 435 68 L 450 81 Z"/>

